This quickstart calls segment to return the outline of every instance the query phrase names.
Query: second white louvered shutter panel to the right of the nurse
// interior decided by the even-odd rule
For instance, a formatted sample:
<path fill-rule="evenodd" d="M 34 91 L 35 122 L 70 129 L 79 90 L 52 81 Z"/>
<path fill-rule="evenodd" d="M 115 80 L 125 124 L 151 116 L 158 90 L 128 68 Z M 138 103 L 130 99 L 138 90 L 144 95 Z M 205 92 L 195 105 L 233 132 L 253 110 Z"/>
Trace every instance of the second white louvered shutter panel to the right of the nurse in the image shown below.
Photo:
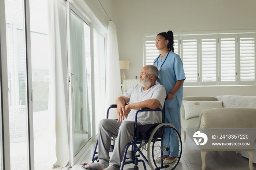
<path fill-rule="evenodd" d="M 202 81 L 217 80 L 217 38 L 201 40 Z"/>

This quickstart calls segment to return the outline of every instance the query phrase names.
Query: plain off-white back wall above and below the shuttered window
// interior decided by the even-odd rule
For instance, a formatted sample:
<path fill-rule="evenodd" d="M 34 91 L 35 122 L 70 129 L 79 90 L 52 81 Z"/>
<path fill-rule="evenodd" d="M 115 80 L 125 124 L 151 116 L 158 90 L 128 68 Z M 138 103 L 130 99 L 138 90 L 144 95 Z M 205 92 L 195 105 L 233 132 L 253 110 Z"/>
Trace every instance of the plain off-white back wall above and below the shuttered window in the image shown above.
<path fill-rule="evenodd" d="M 255 0 L 113 0 L 120 60 L 129 60 L 127 79 L 143 66 L 142 36 L 147 33 L 255 30 Z M 184 96 L 256 96 L 255 86 L 187 87 Z"/>

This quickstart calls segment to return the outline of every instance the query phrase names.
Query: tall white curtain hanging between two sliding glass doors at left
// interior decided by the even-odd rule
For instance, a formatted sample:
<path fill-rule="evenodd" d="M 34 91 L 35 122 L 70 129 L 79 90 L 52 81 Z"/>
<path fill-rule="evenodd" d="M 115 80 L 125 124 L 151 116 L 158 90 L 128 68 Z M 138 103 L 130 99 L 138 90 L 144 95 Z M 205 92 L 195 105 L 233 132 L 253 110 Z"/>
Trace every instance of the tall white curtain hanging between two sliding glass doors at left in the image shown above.
<path fill-rule="evenodd" d="M 49 128 L 48 166 L 65 167 L 69 162 L 67 126 L 67 70 L 65 40 L 65 7 L 48 0 L 49 43 Z M 65 81 L 64 81 L 65 80 Z"/>

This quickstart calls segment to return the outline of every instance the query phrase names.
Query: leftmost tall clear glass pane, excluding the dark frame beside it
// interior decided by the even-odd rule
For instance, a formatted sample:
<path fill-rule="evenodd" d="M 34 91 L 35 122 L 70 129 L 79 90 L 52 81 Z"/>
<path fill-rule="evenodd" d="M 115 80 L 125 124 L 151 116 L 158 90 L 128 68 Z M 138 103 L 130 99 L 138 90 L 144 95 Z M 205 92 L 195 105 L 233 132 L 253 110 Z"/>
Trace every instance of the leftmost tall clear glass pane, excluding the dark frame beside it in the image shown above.
<path fill-rule="evenodd" d="M 5 0 L 11 169 L 29 169 L 27 69 L 22 0 Z"/>

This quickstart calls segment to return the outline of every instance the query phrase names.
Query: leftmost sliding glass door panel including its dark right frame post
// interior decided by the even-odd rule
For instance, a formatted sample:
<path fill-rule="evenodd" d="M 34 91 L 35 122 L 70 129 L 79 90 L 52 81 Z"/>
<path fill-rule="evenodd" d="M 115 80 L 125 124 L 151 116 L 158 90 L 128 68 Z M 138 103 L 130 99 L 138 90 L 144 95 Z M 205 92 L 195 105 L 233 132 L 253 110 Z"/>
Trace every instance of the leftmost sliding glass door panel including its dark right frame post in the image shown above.
<path fill-rule="evenodd" d="M 30 28 L 27 1 L 5 0 L 11 169 L 33 168 Z M 26 15 L 25 15 L 26 14 Z M 26 18 L 28 17 L 28 18 Z"/>

